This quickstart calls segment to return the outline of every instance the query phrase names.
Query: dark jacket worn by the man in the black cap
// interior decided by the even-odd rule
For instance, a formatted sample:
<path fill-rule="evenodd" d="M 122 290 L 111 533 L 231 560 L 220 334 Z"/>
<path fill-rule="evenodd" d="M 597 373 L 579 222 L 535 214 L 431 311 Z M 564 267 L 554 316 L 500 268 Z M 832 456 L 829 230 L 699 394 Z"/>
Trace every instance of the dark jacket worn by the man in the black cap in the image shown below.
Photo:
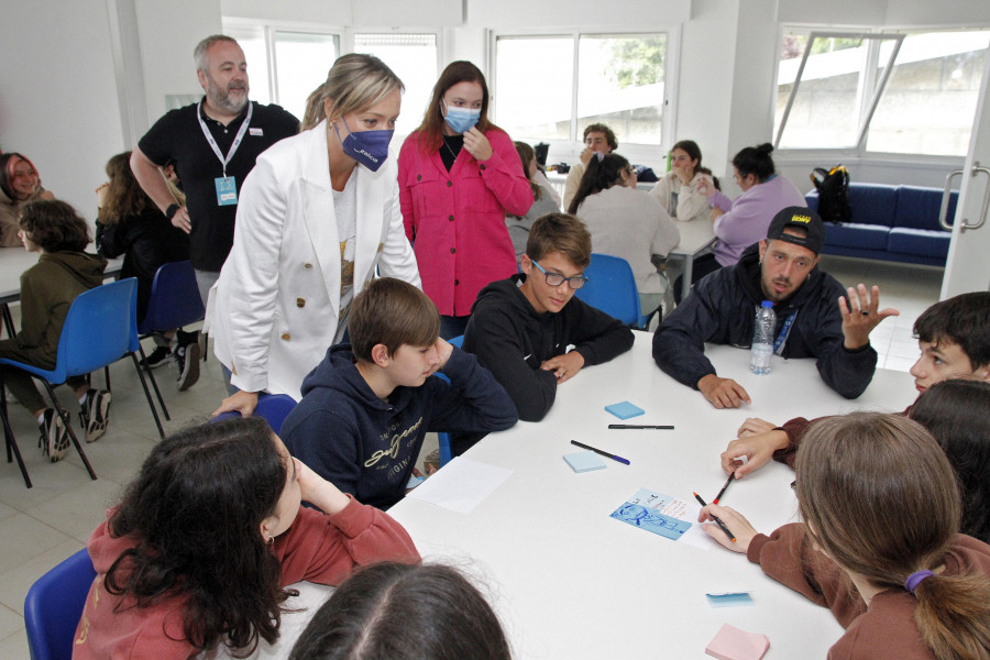
<path fill-rule="evenodd" d="M 784 319 L 798 310 L 782 355 L 816 358 L 822 380 L 844 397 L 856 398 L 873 377 L 877 351 L 869 344 L 856 351 L 843 345 L 843 316 L 837 301 L 845 293 L 835 277 L 815 267 L 801 288 L 774 305 L 773 311 L 779 332 Z M 705 342 L 749 348 L 756 309 L 765 298 L 759 245 L 755 244 L 735 266 L 698 282 L 664 319 L 653 334 L 653 360 L 664 373 L 696 389 L 702 377 L 715 373 L 705 358 Z"/>

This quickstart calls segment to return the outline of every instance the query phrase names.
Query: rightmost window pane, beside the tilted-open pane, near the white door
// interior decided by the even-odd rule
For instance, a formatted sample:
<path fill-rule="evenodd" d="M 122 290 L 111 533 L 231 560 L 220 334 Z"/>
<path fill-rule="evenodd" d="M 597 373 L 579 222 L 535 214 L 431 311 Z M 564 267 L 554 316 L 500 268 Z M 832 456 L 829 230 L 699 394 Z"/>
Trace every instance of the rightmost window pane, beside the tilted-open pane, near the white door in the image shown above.
<path fill-rule="evenodd" d="M 966 155 L 988 40 L 990 31 L 909 34 L 870 123 L 867 151 Z"/>

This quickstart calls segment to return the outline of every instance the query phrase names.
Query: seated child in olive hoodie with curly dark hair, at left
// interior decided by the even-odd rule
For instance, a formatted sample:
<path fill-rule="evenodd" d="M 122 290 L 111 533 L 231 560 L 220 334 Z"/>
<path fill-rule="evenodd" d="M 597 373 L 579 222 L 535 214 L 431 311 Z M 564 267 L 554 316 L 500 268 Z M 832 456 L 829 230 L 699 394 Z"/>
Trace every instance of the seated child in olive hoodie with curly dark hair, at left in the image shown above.
<path fill-rule="evenodd" d="M 36 200 L 21 208 L 20 237 L 28 252 L 37 252 L 37 264 L 21 275 L 21 331 L 0 340 L 0 358 L 40 369 L 55 369 L 58 341 L 69 307 L 76 297 L 103 284 L 107 260 L 82 252 L 89 243 L 89 227 L 64 201 Z M 28 372 L 0 367 L 11 394 L 37 419 L 40 446 L 52 462 L 69 448 L 68 431 L 54 408 L 48 408 Z M 86 376 L 66 381 L 79 400 L 79 418 L 86 441 L 103 435 L 110 422 L 110 393 L 89 387 Z"/>

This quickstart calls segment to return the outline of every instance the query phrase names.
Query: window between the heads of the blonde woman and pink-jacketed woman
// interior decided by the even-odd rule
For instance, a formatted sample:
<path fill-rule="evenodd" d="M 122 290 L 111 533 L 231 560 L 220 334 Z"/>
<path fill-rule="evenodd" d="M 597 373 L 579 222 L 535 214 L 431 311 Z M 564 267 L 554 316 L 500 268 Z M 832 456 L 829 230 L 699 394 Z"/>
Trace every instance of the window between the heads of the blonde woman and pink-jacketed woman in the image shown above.
<path fill-rule="evenodd" d="M 381 58 L 402 78 L 406 91 L 393 140 L 394 144 L 402 144 L 402 140 L 422 122 L 433 85 L 440 77 L 437 70 L 437 35 L 355 34 L 354 52 L 370 53 Z"/>

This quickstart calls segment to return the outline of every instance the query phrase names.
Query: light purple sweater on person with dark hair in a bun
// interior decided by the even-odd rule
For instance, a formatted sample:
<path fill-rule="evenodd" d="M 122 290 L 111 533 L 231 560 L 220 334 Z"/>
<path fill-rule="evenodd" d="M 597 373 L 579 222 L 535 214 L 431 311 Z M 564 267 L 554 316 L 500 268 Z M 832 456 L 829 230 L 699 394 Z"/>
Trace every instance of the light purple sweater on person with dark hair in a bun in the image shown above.
<path fill-rule="evenodd" d="M 737 197 L 736 201 L 719 190 L 708 201 L 712 207 L 725 211 L 715 220 L 718 241 L 712 250 L 715 261 L 723 266 L 735 264 L 744 250 L 766 239 L 770 221 L 781 209 L 807 206 L 798 188 L 780 175 L 773 175 L 762 184 L 752 186 Z"/>

